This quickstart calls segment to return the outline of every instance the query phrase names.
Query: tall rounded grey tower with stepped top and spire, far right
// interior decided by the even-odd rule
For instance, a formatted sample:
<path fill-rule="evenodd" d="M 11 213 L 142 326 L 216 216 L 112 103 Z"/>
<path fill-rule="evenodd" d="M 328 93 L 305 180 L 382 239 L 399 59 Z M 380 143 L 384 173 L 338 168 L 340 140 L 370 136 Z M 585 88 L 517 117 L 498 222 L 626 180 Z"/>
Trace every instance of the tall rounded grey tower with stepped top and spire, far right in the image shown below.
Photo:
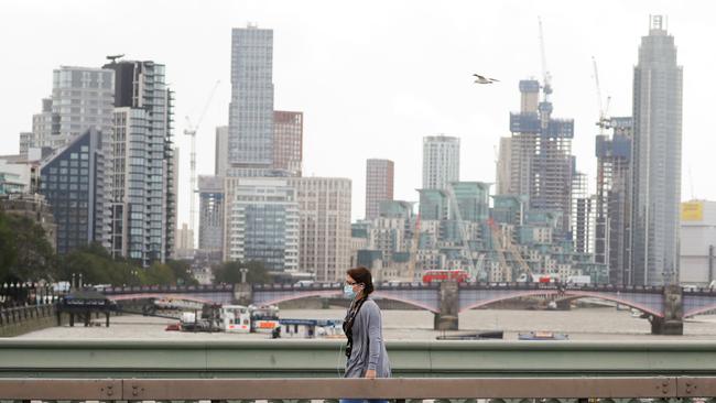
<path fill-rule="evenodd" d="M 665 22 L 650 18 L 633 76 L 633 284 L 679 279 L 683 72 Z"/>

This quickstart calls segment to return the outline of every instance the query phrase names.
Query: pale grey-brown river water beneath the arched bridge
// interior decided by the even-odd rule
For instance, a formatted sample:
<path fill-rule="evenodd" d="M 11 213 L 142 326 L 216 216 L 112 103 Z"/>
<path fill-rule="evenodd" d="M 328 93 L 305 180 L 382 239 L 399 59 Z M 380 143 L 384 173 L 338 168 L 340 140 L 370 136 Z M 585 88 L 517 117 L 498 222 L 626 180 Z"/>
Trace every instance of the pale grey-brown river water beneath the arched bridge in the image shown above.
<path fill-rule="evenodd" d="M 343 309 L 283 309 L 282 318 L 340 319 Z M 443 331 L 433 330 L 433 314 L 425 311 L 384 309 L 383 334 L 387 340 L 434 340 Z M 142 316 L 112 316 L 110 327 L 104 318 L 95 326 L 51 327 L 20 336 L 22 339 L 173 339 L 236 340 L 261 339 L 264 334 L 165 331 L 172 319 Z M 460 331 L 502 330 L 506 340 L 517 340 L 519 333 L 547 330 L 568 335 L 571 340 L 696 340 L 716 339 L 716 315 L 686 319 L 684 336 L 654 336 L 647 319 L 632 317 L 629 311 L 614 307 L 573 308 L 572 311 L 475 309 L 459 315 Z M 448 331 L 445 334 L 457 334 Z"/>

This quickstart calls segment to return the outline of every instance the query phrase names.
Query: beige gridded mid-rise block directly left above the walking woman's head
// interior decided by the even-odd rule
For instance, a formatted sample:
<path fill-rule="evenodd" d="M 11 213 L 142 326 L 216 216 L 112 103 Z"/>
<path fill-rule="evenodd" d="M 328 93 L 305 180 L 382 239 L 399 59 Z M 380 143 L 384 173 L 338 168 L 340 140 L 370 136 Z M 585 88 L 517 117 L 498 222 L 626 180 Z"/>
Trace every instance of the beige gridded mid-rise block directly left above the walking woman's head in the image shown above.
<path fill-rule="evenodd" d="M 300 210 L 301 271 L 341 281 L 350 262 L 350 179 L 290 177 Z"/>

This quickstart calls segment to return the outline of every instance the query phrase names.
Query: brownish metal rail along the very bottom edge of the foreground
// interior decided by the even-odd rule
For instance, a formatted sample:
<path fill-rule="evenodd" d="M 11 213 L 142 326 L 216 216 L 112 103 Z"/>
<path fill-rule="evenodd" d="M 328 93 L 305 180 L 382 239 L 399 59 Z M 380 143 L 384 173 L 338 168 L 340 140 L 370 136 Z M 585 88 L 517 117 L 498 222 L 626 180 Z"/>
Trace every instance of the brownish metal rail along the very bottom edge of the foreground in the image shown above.
<path fill-rule="evenodd" d="M 424 399 L 492 402 L 560 399 L 614 403 L 619 399 L 693 401 L 716 396 L 715 377 L 488 378 L 488 379 L 3 379 L 2 400 L 253 401 Z"/>

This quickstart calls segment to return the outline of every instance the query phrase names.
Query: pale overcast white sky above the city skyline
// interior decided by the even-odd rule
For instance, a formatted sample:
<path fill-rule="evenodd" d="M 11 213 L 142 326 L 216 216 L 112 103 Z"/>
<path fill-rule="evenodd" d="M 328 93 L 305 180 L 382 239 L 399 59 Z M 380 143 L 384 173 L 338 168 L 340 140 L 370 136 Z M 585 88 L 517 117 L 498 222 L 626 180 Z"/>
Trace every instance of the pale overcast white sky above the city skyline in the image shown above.
<path fill-rule="evenodd" d="M 395 162 L 395 198 L 415 200 L 422 138 L 462 139 L 460 179 L 495 181 L 499 138 L 519 109 L 518 81 L 541 78 L 538 17 L 553 77 L 554 117 L 575 119 L 573 152 L 594 189 L 598 117 L 592 56 L 610 115 L 631 115 L 632 68 L 649 14 L 666 14 L 684 66 L 682 199 L 716 200 L 713 79 L 716 24 L 708 1 L 3 1 L 0 4 L 0 154 L 52 90 L 59 65 L 106 55 L 166 65 L 176 91 L 180 222 L 188 218 L 185 116 L 198 118 L 197 170 L 214 172 L 214 129 L 228 122 L 231 28 L 273 29 L 276 110 L 304 112 L 304 173 L 352 179 L 365 211 L 366 159 Z M 473 73 L 501 83 L 471 84 Z M 690 175 L 691 173 L 691 175 Z M 690 177 L 691 176 L 691 177 Z M 692 185 L 693 184 L 693 185 Z"/>

